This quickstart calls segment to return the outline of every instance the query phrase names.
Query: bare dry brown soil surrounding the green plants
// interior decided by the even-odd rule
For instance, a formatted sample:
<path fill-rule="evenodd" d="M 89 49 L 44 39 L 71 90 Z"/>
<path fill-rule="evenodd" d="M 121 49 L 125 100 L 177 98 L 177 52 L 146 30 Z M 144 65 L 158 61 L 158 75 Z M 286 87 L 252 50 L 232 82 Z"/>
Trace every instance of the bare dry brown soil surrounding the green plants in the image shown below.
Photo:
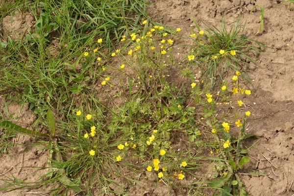
<path fill-rule="evenodd" d="M 278 5 L 278 0 L 153 0 L 153 2 L 153 6 L 158 10 L 149 9 L 153 20 L 160 22 L 159 19 L 161 19 L 161 22 L 169 27 L 181 27 L 182 35 L 190 34 L 190 25 L 196 29 L 192 18 L 199 23 L 203 21 L 209 25 L 217 25 L 223 16 L 230 23 L 242 14 L 247 20 L 247 32 L 252 34 L 252 38 L 267 43 L 275 49 L 271 49 L 270 53 L 264 52 L 260 57 L 263 69 L 249 71 L 251 79 L 254 79 L 255 89 L 251 97 L 243 98 L 245 106 L 250 107 L 252 111 L 247 121 L 247 131 L 249 134 L 261 137 L 261 140 L 250 149 L 251 161 L 238 175 L 250 196 L 292 196 L 294 194 L 294 185 L 292 185 L 294 181 L 294 94 L 292 92 L 294 87 L 294 12 L 288 9 L 287 4 Z M 260 9 L 255 9 L 249 15 L 255 4 L 265 8 L 264 28 L 258 35 L 254 34 L 259 28 Z M 4 19 L 5 32 L 13 39 L 22 36 L 25 29 L 32 23 L 32 20 L 28 20 L 29 23 L 22 23 L 20 16 L 9 16 Z M 16 31 L 20 33 L 15 33 Z M 181 49 L 180 52 L 186 51 Z M 105 90 L 99 84 L 98 89 Z M 114 91 L 109 90 L 109 92 L 115 94 Z M 3 100 L 0 101 L 0 110 L 5 112 Z M 21 110 L 21 106 L 8 104 L 8 108 L 9 112 L 14 111 L 15 115 L 20 117 L 15 120 L 15 123 L 28 127 L 35 120 L 35 116 L 27 106 Z M 16 143 L 30 144 L 31 141 L 31 138 L 20 135 Z M 246 140 L 245 146 L 250 147 L 255 142 L 256 140 Z M 25 146 L 16 145 L 10 152 L 10 156 L 5 155 L 1 158 L 1 163 L 0 173 L 14 174 L 18 178 L 31 181 L 37 179 L 37 169 L 21 169 L 22 164 L 44 167 L 47 163 L 47 153 L 36 147 L 26 150 Z M 254 171 L 265 171 L 267 174 L 264 176 L 246 174 Z M 124 182 L 119 183 L 124 184 Z M 175 193 L 162 183 L 151 184 L 148 178 L 142 180 L 142 184 L 134 184 L 133 190 L 129 189 L 130 195 L 187 195 L 187 193 Z M 110 187 L 118 191 L 122 189 L 117 185 L 110 185 Z M 154 189 L 150 190 L 150 187 Z M 20 196 L 23 195 L 22 192 L 25 191 L 6 194 L 0 192 L 0 195 Z"/>

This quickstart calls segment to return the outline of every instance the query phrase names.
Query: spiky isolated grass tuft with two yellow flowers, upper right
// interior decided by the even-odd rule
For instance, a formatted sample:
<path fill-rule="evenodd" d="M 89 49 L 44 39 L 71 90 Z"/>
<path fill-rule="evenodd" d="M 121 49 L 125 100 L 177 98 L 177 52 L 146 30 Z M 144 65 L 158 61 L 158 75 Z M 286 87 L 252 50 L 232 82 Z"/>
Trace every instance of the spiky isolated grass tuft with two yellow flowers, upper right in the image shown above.
<path fill-rule="evenodd" d="M 194 22 L 200 32 L 200 26 Z M 194 50 L 191 53 L 201 66 L 203 78 L 210 79 L 212 86 L 216 78 L 222 79 L 224 73 L 230 73 L 231 70 L 242 71 L 242 76 L 250 82 L 246 65 L 252 62 L 259 66 L 256 57 L 266 47 L 244 35 L 245 23 L 240 18 L 229 25 L 228 29 L 223 19 L 219 27 L 205 25 L 202 31 L 204 34 L 192 34 Z"/>

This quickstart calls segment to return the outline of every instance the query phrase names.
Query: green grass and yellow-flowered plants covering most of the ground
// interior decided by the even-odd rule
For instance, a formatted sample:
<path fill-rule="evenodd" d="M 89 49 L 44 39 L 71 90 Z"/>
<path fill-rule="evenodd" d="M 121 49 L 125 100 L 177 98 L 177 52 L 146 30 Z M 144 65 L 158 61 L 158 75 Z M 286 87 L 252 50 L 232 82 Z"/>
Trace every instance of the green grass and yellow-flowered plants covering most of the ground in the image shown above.
<path fill-rule="evenodd" d="M 230 118 L 230 111 L 220 105 L 237 102 L 231 96 L 237 94 L 234 89 L 247 95 L 250 91 L 236 78 L 237 82 L 223 81 L 220 87 L 226 89 L 216 87 L 221 91 L 217 93 L 211 89 L 213 82 L 194 78 L 191 66 L 200 65 L 204 78 L 222 77 L 223 66 L 227 72 L 231 69 L 245 76 L 247 61 L 243 60 L 257 62 L 251 53 L 259 53 L 261 49 L 256 47 L 262 43 L 241 37 L 245 26 L 240 27 L 239 20 L 229 31 L 220 23 L 220 28 L 206 26 L 205 34 L 194 39 L 194 50 L 175 60 L 173 50 L 179 46 L 173 41 L 187 37 L 148 20 L 146 6 L 136 0 L 5 4 L 2 12 L 6 14 L 29 8 L 36 25 L 23 40 L 8 38 L 1 43 L 0 91 L 7 99 L 28 102 L 38 120 L 34 130 L 7 121 L 0 126 L 36 136 L 40 124 L 48 127 L 44 137 L 36 137 L 36 144 L 48 150 L 49 165 L 36 182 L 2 178 L 7 184 L 0 190 L 46 187 L 55 182 L 50 190 L 54 196 L 70 190 L 93 195 L 95 188 L 99 194 L 116 193 L 109 185 L 118 179 L 132 185 L 151 174 L 157 183 L 190 193 L 201 194 L 203 184 L 221 194 L 244 192 L 235 173 L 248 161 L 242 148 L 248 137 L 247 117 L 242 111 Z M 131 17 L 135 13 L 138 16 Z M 58 52 L 50 54 L 54 37 Z M 235 50 L 236 55 L 220 55 L 220 49 Z M 170 82 L 171 69 L 180 75 L 175 83 Z M 114 96 L 110 95 L 112 89 L 117 91 Z M 241 120 L 241 128 L 232 128 L 237 120 Z M 232 129 L 239 135 L 229 132 Z M 10 137 L 9 133 L 5 132 L 4 138 Z M 207 162 L 216 168 L 216 180 L 196 174 Z M 197 182 L 183 186 L 181 177 Z"/>

